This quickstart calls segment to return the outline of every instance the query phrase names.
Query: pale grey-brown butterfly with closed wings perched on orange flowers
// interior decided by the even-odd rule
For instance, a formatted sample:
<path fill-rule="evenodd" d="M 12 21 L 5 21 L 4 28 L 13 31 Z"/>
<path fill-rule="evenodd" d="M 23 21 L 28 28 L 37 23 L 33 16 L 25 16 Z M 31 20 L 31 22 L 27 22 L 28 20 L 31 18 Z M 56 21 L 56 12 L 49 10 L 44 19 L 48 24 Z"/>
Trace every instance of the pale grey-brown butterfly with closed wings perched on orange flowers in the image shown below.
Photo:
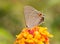
<path fill-rule="evenodd" d="M 32 28 L 44 22 L 44 15 L 31 6 L 24 7 L 26 27 Z"/>

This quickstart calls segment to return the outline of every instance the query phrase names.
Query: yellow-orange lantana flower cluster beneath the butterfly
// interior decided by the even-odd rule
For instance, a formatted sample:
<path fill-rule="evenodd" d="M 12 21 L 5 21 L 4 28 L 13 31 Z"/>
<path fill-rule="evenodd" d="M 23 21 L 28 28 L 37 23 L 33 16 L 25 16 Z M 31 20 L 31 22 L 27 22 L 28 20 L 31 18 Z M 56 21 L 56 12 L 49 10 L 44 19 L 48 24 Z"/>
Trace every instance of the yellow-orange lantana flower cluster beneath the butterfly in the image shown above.
<path fill-rule="evenodd" d="M 14 44 L 49 44 L 49 38 L 53 37 L 46 27 L 35 26 L 33 28 L 24 28 L 16 36 Z"/>

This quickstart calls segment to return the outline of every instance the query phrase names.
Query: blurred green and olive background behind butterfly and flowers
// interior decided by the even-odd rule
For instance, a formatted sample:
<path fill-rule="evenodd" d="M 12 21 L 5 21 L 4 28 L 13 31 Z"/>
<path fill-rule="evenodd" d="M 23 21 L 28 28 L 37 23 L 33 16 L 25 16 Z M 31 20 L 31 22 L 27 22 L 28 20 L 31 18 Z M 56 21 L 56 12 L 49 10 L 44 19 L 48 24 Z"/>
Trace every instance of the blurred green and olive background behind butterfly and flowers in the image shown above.
<path fill-rule="evenodd" d="M 60 0 L 0 0 L 0 44 L 13 44 L 25 27 L 26 5 L 45 14 L 44 26 L 54 35 L 50 44 L 60 44 Z"/>

